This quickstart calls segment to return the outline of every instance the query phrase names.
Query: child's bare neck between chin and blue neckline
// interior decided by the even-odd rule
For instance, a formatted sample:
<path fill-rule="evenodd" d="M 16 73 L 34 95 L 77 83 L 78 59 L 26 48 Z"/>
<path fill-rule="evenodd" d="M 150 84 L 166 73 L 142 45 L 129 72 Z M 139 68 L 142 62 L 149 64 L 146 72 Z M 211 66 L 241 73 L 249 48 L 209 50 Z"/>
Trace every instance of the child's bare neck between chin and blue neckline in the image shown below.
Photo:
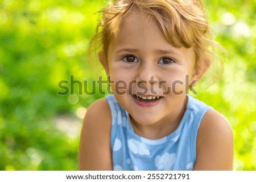
<path fill-rule="evenodd" d="M 180 124 L 181 119 L 187 108 L 187 96 L 184 99 L 184 103 L 181 104 L 180 108 L 177 108 L 177 112 L 171 113 L 171 117 L 167 116 L 161 121 L 156 122 L 152 125 L 141 125 L 134 120 L 130 115 L 130 121 L 134 129 L 134 133 L 141 137 L 148 139 L 160 139 L 173 133 Z"/>

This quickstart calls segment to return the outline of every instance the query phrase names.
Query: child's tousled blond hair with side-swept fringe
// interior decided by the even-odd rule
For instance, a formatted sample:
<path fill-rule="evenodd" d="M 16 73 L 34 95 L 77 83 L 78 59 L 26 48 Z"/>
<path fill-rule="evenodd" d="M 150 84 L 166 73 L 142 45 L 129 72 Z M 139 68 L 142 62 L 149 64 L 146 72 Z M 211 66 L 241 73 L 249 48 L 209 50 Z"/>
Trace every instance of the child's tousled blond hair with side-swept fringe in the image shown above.
<path fill-rule="evenodd" d="M 196 61 L 200 60 L 201 55 L 207 55 L 208 59 L 204 64 L 211 64 L 213 67 L 209 75 L 212 78 L 211 84 L 221 76 L 222 62 L 215 49 L 224 48 L 213 40 L 201 0 L 115 0 L 100 11 L 102 19 L 89 43 L 88 56 L 104 50 L 107 57 L 110 40 L 117 36 L 122 20 L 134 9 L 146 12 L 154 18 L 171 45 L 176 48 L 193 48 Z"/>

